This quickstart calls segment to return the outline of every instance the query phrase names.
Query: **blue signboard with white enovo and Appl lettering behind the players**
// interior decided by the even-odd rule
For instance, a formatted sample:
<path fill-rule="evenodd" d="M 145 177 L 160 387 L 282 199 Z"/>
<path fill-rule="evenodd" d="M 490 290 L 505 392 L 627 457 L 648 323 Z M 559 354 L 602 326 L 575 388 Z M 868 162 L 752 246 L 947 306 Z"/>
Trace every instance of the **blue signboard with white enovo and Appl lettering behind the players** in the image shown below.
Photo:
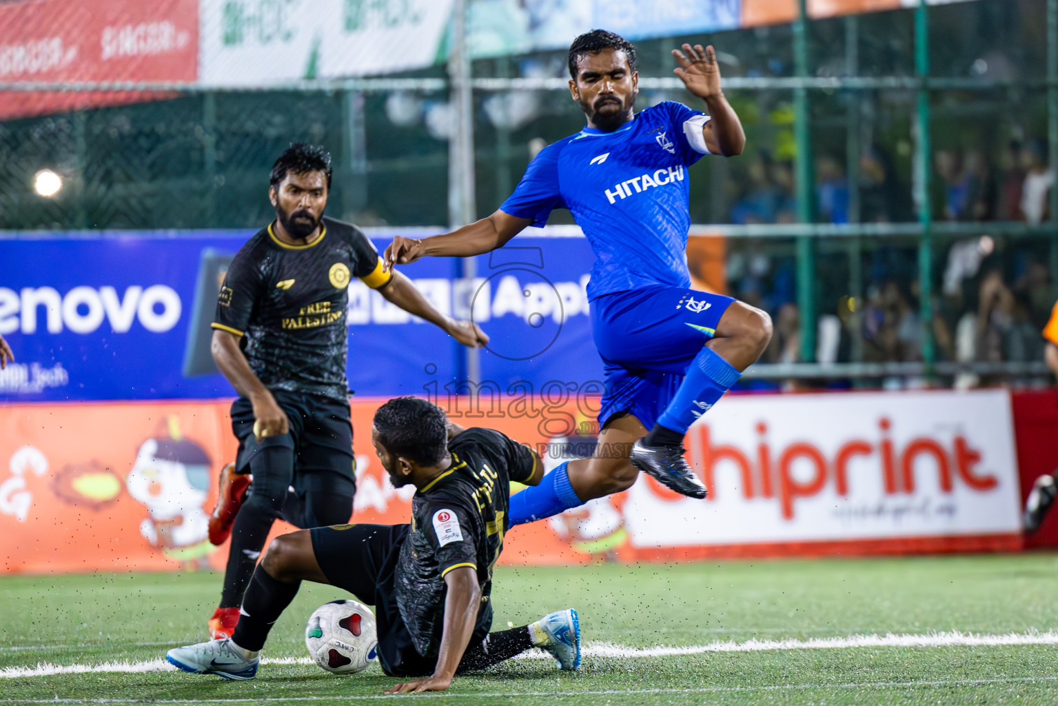
<path fill-rule="evenodd" d="M 130 400 L 233 396 L 209 356 L 220 279 L 252 231 L 51 234 L 0 240 L 0 334 L 16 362 L 0 400 Z M 382 251 L 399 232 L 375 234 Z M 420 234 L 416 233 L 416 236 Z M 591 388 L 602 363 L 584 286 L 592 255 L 580 237 L 519 236 L 458 263 L 402 267 L 441 311 L 491 337 L 482 384 L 539 392 Z M 360 395 L 459 393 L 466 348 L 414 321 L 359 280 L 349 287 L 349 386 Z"/>

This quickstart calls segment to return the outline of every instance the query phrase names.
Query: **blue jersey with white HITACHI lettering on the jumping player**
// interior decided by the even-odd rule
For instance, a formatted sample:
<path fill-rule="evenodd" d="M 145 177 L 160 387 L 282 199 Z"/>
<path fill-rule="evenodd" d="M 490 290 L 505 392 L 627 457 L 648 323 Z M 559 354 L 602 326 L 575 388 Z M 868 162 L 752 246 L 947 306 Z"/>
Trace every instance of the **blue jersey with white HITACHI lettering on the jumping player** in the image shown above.
<path fill-rule="evenodd" d="M 500 207 L 543 227 L 569 209 L 596 254 L 588 298 L 689 287 L 687 167 L 709 150 L 707 115 L 665 101 L 614 132 L 584 128 L 545 147 Z"/>

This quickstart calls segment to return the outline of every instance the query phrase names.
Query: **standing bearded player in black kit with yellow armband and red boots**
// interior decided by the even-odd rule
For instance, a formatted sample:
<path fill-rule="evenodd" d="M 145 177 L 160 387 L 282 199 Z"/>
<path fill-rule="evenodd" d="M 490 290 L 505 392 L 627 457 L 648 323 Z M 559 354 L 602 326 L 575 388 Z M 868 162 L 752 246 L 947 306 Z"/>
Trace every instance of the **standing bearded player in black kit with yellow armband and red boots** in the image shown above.
<path fill-rule="evenodd" d="M 348 286 L 358 277 L 387 301 L 468 346 L 488 343 L 471 322 L 438 312 L 404 275 L 385 271 L 355 225 L 324 217 L 330 155 L 296 144 L 272 167 L 276 219 L 239 250 L 220 288 L 212 351 L 239 398 L 235 464 L 221 472 L 209 540 L 232 536 L 215 639 L 229 637 L 276 518 L 297 527 L 348 522 L 355 491 L 349 387 Z M 252 475 L 252 483 L 251 483 Z"/>

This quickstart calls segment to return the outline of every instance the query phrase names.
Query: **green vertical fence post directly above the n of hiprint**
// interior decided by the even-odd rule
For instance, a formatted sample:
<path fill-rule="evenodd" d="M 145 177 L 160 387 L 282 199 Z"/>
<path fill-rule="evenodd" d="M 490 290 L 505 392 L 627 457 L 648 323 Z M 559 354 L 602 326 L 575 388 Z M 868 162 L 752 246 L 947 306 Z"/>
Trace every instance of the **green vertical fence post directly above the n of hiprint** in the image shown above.
<path fill-rule="evenodd" d="M 926 0 L 918 0 L 915 11 L 915 75 L 918 77 L 918 111 L 916 116 L 915 141 L 915 201 L 918 207 L 918 223 L 922 232 L 918 235 L 918 304 L 919 325 L 923 339 L 923 362 L 926 363 L 926 375 L 931 376 L 936 362 L 936 351 L 933 347 L 933 202 L 930 198 L 930 178 L 932 165 L 930 159 L 930 110 L 929 90 L 926 80 L 929 77 L 929 8 Z"/>

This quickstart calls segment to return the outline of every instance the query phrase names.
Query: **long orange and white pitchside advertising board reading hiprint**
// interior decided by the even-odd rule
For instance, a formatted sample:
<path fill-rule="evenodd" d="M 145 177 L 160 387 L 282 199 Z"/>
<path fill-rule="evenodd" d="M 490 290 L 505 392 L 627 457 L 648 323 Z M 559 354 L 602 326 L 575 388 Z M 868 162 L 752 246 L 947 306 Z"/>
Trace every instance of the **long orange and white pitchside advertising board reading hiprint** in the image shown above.
<path fill-rule="evenodd" d="M 443 388 L 464 427 L 533 445 L 548 469 L 591 454 L 591 391 L 513 388 L 479 404 Z M 370 443 L 382 399 L 353 399 L 353 522 L 402 523 Z M 222 568 L 206 539 L 234 458 L 229 400 L 0 406 L 0 573 Z M 688 435 L 706 501 L 640 475 L 628 491 L 511 529 L 514 564 L 1020 548 L 1006 391 L 733 395 Z M 273 535 L 292 528 L 277 523 Z"/>

